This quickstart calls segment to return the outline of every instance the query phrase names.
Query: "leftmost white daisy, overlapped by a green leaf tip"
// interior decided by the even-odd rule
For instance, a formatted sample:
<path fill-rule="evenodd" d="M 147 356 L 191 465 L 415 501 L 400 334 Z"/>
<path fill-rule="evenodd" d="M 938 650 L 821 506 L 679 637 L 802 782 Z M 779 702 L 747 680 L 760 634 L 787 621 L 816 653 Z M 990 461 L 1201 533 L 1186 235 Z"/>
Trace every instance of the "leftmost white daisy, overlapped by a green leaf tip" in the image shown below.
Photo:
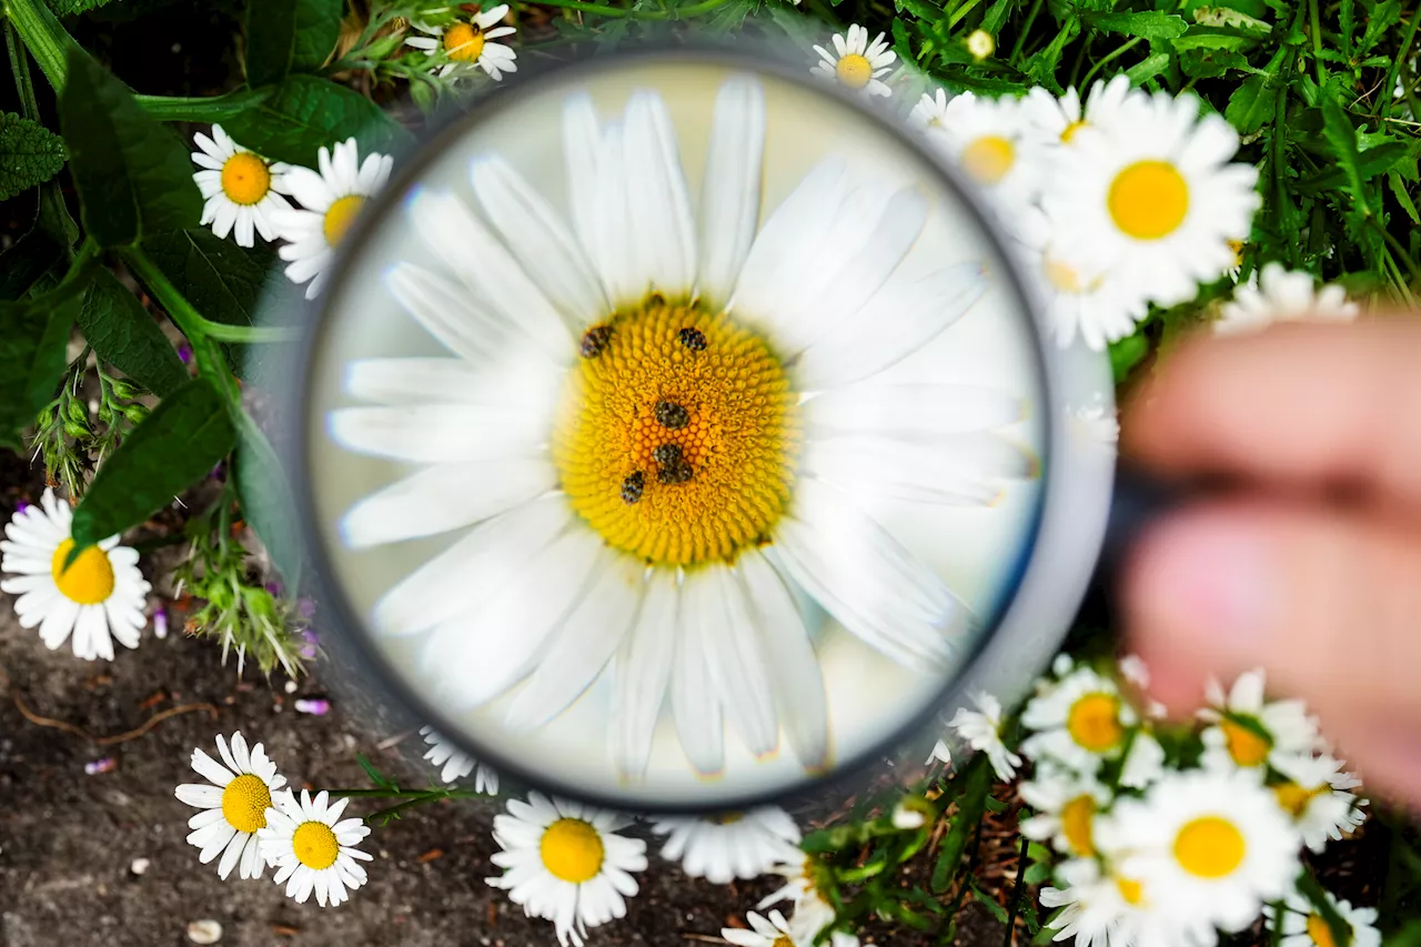
<path fill-rule="evenodd" d="M 144 609 L 152 586 L 138 570 L 138 552 L 109 536 L 90 546 L 65 569 L 74 540 L 74 512 L 45 488 L 6 523 L 0 542 L 0 592 L 20 596 L 14 614 L 21 628 L 40 627 L 40 640 L 54 650 L 74 633 L 74 654 L 85 661 L 114 660 L 114 638 L 128 648 L 148 624 Z"/>

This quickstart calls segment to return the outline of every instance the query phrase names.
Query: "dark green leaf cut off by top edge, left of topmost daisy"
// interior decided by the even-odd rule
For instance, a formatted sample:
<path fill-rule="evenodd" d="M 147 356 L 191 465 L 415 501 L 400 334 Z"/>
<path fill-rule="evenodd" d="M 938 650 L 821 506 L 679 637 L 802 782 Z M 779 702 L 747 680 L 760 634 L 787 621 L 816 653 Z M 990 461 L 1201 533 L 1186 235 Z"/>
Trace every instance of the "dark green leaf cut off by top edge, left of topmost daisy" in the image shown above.
<path fill-rule="evenodd" d="M 341 7 L 341 0 L 247 0 L 247 82 L 320 68 L 335 48 Z"/>

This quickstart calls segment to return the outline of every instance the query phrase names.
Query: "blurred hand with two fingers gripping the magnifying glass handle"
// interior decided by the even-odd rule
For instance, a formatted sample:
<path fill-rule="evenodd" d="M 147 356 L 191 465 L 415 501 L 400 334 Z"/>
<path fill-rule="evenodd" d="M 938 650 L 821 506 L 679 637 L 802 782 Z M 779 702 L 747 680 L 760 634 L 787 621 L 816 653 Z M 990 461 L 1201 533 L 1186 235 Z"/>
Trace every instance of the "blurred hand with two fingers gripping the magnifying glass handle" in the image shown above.
<path fill-rule="evenodd" d="M 1268 670 L 1368 788 L 1421 808 L 1421 321 L 1198 340 L 1131 400 L 1123 452 L 1255 489 L 1151 526 L 1130 646 L 1174 714 Z"/>

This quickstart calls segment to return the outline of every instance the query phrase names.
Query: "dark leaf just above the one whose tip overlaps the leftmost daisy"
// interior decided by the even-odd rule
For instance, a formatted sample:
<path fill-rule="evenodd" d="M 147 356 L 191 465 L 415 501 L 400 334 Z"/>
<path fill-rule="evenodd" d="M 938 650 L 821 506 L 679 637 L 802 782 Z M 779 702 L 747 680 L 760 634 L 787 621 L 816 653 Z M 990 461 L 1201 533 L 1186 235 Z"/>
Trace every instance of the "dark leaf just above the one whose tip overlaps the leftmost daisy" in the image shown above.
<path fill-rule="evenodd" d="M 99 358 L 159 398 L 186 384 L 188 370 L 152 314 L 108 270 L 94 276 L 80 307 L 80 328 Z"/>

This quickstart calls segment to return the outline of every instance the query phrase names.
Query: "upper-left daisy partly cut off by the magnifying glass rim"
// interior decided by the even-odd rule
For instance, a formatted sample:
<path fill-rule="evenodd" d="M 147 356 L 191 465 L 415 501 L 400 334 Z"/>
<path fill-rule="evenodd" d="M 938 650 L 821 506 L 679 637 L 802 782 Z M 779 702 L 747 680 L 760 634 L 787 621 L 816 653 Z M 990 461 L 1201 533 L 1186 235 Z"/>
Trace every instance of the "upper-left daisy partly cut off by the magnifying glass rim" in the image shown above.
<path fill-rule="evenodd" d="M 360 161 L 354 138 L 335 145 L 334 156 L 325 148 L 317 154 L 320 173 L 310 168 L 286 171 L 286 186 L 303 209 L 287 208 L 271 215 L 277 235 L 287 240 L 277 253 L 290 266 L 286 276 L 293 283 L 308 283 L 306 299 L 325 286 L 325 273 L 335 259 L 335 247 L 355 222 L 365 200 L 385 186 L 394 158 L 371 154 Z"/>

